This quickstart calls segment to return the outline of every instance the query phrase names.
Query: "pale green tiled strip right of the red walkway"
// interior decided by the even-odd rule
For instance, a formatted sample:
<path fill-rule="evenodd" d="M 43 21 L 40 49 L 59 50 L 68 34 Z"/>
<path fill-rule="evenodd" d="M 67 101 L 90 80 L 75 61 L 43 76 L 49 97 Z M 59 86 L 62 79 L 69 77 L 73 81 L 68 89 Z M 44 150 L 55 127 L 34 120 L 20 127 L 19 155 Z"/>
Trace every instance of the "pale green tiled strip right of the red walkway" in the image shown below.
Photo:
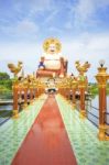
<path fill-rule="evenodd" d="M 59 95 L 56 97 L 78 165 L 109 165 L 109 142 L 97 139 L 97 128 L 87 119 L 80 120 Z"/>

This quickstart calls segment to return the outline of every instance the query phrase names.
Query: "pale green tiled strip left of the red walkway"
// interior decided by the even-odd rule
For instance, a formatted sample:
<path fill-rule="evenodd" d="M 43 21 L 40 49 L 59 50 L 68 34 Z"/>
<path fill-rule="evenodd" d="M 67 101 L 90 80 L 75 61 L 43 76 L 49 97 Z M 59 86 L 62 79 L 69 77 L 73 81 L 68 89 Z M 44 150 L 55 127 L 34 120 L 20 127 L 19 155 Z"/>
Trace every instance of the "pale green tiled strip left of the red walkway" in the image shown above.
<path fill-rule="evenodd" d="M 19 119 L 9 120 L 0 127 L 0 165 L 10 165 L 19 146 L 39 114 L 46 96 L 41 96 L 33 105 L 20 113 Z"/>

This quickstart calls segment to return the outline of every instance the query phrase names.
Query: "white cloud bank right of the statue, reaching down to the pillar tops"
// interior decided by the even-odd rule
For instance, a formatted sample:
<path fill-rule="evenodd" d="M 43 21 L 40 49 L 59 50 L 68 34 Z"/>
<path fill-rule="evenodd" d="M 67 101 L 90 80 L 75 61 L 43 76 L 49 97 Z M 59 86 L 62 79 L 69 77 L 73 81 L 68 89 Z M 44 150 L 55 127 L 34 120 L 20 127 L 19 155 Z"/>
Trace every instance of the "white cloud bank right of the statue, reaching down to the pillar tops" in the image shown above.
<path fill-rule="evenodd" d="M 91 64 L 87 73 L 89 80 L 95 80 L 99 61 L 105 59 L 106 66 L 109 66 L 109 33 L 108 34 L 83 34 L 78 38 L 64 41 L 63 54 L 68 59 L 68 70 L 77 75 L 75 69 L 75 61 L 86 62 Z M 108 70 L 109 72 L 109 70 Z"/>

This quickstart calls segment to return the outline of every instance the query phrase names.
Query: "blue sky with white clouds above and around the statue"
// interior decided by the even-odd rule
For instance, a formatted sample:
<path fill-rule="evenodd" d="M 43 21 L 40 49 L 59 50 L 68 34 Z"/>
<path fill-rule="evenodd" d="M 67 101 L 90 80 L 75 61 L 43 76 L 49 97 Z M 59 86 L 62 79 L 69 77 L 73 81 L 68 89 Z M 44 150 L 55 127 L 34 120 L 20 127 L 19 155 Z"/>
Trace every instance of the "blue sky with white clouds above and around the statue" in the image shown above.
<path fill-rule="evenodd" d="M 34 72 L 51 36 L 62 42 L 68 72 L 77 74 L 76 59 L 89 61 L 92 80 L 99 59 L 109 66 L 109 0 L 0 0 L 0 72 L 19 59 Z"/>

